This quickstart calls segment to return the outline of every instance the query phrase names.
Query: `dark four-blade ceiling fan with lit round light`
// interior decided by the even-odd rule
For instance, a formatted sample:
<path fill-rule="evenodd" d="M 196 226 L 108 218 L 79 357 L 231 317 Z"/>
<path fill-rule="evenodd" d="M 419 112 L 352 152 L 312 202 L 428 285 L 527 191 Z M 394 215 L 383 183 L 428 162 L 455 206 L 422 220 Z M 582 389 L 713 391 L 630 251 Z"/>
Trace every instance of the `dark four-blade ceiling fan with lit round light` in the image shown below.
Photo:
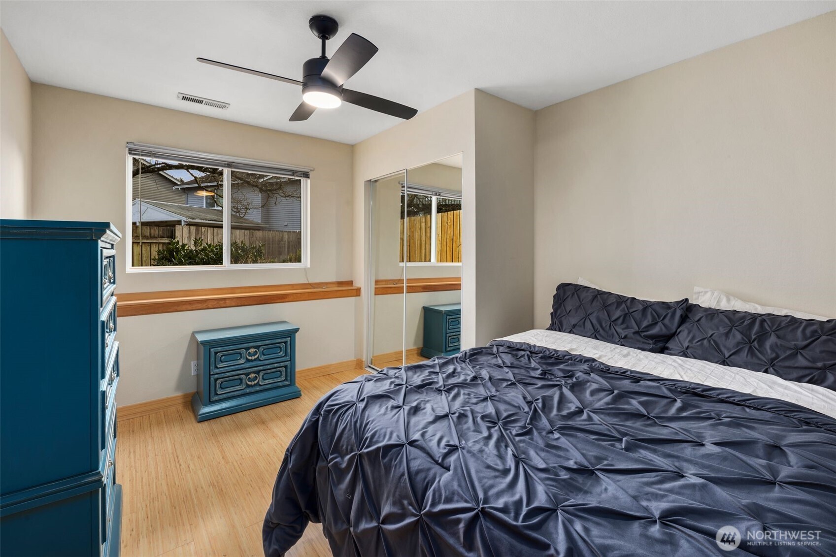
<path fill-rule="evenodd" d="M 308 20 L 308 27 L 322 41 L 322 55 L 319 58 L 305 61 L 302 65 L 302 81 L 259 72 L 255 69 L 224 64 L 216 60 L 198 58 L 197 61 L 221 68 L 234 69 L 245 74 L 259 75 L 284 83 L 300 85 L 302 87 L 302 104 L 298 105 L 297 109 L 293 111 L 293 115 L 290 116 L 291 122 L 308 120 L 310 115 L 314 114 L 314 110 L 318 108 L 337 108 L 343 101 L 383 114 L 397 116 L 404 120 L 409 120 L 418 113 L 418 110 L 409 106 L 343 87 L 343 84 L 377 53 L 377 47 L 374 44 L 360 37 L 357 33 L 351 33 L 349 38 L 346 38 L 337 52 L 334 53 L 334 56 L 328 59 L 325 56 L 325 42 L 337 34 L 339 29 L 337 20 L 325 15 L 315 15 Z"/>

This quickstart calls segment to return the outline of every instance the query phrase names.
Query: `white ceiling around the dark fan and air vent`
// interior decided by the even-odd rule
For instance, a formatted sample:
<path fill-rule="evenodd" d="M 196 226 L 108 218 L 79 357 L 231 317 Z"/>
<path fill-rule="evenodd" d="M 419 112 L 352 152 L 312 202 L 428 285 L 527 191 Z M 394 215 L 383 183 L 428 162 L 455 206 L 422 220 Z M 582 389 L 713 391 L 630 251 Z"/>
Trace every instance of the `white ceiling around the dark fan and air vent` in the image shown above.
<path fill-rule="evenodd" d="M 380 52 L 347 86 L 426 110 L 469 89 L 540 109 L 836 9 L 836 2 L 21 2 L 0 25 L 33 81 L 354 144 L 401 120 L 353 105 L 288 122 L 319 55 L 308 18 Z M 232 103 L 189 105 L 178 92 Z"/>

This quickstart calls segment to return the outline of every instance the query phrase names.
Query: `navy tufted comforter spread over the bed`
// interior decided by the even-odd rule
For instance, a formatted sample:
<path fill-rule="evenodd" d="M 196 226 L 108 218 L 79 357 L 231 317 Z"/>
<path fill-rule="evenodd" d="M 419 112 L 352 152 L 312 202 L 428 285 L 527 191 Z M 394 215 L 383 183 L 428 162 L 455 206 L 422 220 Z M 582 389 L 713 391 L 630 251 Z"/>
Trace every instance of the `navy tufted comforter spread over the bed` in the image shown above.
<path fill-rule="evenodd" d="M 704 555 L 732 526 L 732 554 L 833 555 L 834 483 L 833 418 L 499 340 L 324 396 L 263 542 L 314 521 L 335 555 Z"/>

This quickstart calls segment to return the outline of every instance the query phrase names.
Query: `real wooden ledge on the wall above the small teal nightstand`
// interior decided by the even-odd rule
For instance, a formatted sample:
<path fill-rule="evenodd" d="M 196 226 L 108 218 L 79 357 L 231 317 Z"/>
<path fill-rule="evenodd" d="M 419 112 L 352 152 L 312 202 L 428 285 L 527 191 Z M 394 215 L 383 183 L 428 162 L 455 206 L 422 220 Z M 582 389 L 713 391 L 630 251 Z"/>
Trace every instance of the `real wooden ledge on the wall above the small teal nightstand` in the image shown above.
<path fill-rule="evenodd" d="M 176 311 L 236 308 L 243 305 L 283 304 L 313 299 L 353 298 L 359 286 L 350 280 L 328 283 L 268 284 L 222 289 L 165 290 L 117 293 L 117 312 L 132 315 L 169 314 Z"/>

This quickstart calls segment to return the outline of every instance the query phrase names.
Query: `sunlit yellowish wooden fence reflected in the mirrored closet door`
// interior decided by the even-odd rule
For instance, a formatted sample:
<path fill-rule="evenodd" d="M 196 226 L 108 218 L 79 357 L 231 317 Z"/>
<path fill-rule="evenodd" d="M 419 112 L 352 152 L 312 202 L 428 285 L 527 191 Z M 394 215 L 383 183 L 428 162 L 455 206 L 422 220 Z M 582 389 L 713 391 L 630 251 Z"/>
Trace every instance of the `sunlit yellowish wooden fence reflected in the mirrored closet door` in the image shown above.
<path fill-rule="evenodd" d="M 407 233 L 406 254 L 409 257 L 406 261 L 430 261 L 430 215 L 400 219 L 400 261 L 404 261 L 404 230 Z M 436 215 L 436 263 L 461 263 L 461 211 L 440 212 Z"/>

